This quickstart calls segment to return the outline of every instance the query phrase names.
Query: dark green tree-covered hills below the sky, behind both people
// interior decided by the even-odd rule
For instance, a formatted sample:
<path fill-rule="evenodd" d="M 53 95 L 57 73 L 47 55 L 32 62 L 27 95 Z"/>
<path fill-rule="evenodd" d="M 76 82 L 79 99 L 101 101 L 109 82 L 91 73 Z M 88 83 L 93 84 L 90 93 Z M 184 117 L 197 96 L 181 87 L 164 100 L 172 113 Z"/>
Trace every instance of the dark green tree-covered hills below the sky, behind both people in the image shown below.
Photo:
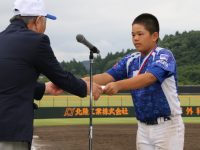
<path fill-rule="evenodd" d="M 199 85 L 200 84 L 200 31 L 189 31 L 174 35 L 165 35 L 159 40 L 158 45 L 170 49 L 177 62 L 178 84 Z M 93 74 L 102 73 L 116 64 L 123 56 L 134 52 L 134 49 L 122 50 L 120 52 L 109 52 L 105 58 L 97 55 L 94 58 Z M 89 75 L 89 61 L 77 61 L 75 59 L 60 65 L 64 70 L 73 73 L 77 77 Z M 48 81 L 40 76 L 41 81 Z"/>

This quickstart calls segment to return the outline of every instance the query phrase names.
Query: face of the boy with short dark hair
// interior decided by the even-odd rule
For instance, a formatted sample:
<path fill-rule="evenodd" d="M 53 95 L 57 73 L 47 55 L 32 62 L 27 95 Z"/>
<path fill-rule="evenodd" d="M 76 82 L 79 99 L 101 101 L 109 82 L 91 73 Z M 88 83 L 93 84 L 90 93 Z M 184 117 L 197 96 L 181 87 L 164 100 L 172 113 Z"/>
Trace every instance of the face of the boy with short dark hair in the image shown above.
<path fill-rule="evenodd" d="M 132 41 L 135 45 L 135 48 L 140 51 L 142 54 L 148 54 L 155 45 L 158 39 L 158 33 L 154 32 L 150 34 L 146 30 L 145 26 L 142 24 L 133 24 L 132 25 Z"/>

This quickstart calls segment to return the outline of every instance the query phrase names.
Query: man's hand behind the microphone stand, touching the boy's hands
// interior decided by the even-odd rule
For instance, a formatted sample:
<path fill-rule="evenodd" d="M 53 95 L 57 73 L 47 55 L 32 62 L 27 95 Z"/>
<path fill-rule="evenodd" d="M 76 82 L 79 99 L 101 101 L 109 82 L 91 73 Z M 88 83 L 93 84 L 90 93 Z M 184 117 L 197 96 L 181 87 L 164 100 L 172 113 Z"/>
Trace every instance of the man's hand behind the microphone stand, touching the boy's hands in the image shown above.
<path fill-rule="evenodd" d="M 87 94 L 90 94 L 90 82 L 85 81 L 87 84 Z M 103 90 L 101 88 L 100 85 L 93 83 L 92 85 L 93 89 L 92 89 L 92 95 L 94 96 L 94 100 L 98 100 L 99 97 L 101 96 L 101 94 L 103 93 Z"/>

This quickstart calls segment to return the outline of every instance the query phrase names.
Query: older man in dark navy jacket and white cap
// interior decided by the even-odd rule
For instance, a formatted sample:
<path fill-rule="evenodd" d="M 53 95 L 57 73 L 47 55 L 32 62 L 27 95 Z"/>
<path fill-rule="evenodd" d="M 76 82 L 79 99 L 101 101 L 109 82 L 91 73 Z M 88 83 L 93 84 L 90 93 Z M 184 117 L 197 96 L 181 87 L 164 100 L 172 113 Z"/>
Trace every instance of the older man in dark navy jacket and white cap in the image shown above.
<path fill-rule="evenodd" d="M 0 149 L 28 150 L 33 135 L 33 98 L 41 95 L 35 92 L 39 74 L 80 97 L 85 97 L 90 87 L 63 71 L 54 56 L 44 31 L 46 19 L 56 17 L 46 13 L 43 0 L 16 0 L 14 13 L 10 25 L 0 33 Z M 97 84 L 93 88 L 94 99 L 98 99 L 102 89 Z"/>

